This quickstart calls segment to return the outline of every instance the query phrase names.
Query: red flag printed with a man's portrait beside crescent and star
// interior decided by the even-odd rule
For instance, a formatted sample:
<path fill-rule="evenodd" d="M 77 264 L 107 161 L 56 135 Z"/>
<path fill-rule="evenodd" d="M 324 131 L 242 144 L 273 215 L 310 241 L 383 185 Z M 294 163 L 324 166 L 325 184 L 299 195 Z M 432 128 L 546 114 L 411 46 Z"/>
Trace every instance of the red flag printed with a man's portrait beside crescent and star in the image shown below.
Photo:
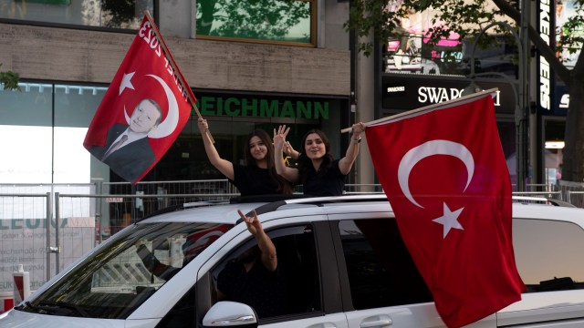
<path fill-rule="evenodd" d="M 181 133 L 191 115 L 188 96 L 196 101 L 155 31 L 145 15 L 83 142 L 93 156 L 133 183 L 162 159 Z"/>

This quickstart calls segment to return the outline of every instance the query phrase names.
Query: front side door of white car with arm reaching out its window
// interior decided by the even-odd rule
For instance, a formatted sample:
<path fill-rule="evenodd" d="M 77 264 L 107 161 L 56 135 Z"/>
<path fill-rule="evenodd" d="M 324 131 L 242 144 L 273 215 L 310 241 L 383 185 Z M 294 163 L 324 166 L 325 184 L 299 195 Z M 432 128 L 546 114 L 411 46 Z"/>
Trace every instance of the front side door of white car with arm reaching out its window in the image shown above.
<path fill-rule="evenodd" d="M 277 271 L 282 279 L 274 293 L 286 295 L 287 311 L 278 315 L 262 315 L 266 313 L 265 309 L 254 308 L 247 303 L 254 308 L 259 327 L 348 327 L 340 305 L 337 264 L 325 218 L 294 217 L 262 223 L 276 246 Z M 205 273 L 208 278 L 199 283 L 200 289 L 211 291 L 209 306 L 219 301 L 229 301 L 218 296 L 218 286 L 223 285 L 218 282 L 221 272 L 254 245 L 255 239 L 244 231 L 213 257 L 214 264 Z M 320 252 L 321 245 L 328 250 L 328 255 Z M 323 267 L 328 268 L 327 272 L 334 273 L 327 273 L 325 278 Z"/>

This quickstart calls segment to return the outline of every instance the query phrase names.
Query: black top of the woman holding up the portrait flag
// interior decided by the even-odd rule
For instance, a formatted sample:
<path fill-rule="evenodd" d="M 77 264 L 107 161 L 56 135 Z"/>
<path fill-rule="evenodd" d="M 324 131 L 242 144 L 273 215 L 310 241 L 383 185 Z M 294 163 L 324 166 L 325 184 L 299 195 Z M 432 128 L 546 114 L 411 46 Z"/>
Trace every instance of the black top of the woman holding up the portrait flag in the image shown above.
<path fill-rule="evenodd" d="M 229 181 L 237 187 L 242 196 L 282 193 L 268 169 L 234 164 L 234 177 L 235 179 Z"/>

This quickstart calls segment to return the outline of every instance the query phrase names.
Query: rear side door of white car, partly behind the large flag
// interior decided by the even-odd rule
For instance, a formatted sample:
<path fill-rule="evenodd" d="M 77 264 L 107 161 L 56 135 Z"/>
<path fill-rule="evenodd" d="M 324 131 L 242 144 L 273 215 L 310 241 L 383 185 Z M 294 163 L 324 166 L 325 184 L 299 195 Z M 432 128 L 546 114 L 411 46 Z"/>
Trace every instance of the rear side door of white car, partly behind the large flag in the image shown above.
<path fill-rule="evenodd" d="M 343 303 L 350 328 L 445 327 L 432 293 L 387 213 L 329 216 L 336 231 Z M 494 328 L 495 314 L 469 325 Z"/>

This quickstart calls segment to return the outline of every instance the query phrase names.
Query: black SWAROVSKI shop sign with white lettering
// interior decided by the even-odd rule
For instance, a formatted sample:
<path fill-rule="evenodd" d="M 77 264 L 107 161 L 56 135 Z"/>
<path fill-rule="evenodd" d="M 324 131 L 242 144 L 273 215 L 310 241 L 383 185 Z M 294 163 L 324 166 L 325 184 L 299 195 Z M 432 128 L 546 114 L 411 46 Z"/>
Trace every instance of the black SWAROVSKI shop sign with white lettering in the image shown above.
<path fill-rule="evenodd" d="M 516 95 L 506 82 L 475 80 L 484 90 L 497 88 L 495 108 L 497 114 L 514 114 Z M 412 77 L 383 77 L 382 108 L 410 110 L 437 104 L 463 96 L 468 79 L 427 79 Z"/>

